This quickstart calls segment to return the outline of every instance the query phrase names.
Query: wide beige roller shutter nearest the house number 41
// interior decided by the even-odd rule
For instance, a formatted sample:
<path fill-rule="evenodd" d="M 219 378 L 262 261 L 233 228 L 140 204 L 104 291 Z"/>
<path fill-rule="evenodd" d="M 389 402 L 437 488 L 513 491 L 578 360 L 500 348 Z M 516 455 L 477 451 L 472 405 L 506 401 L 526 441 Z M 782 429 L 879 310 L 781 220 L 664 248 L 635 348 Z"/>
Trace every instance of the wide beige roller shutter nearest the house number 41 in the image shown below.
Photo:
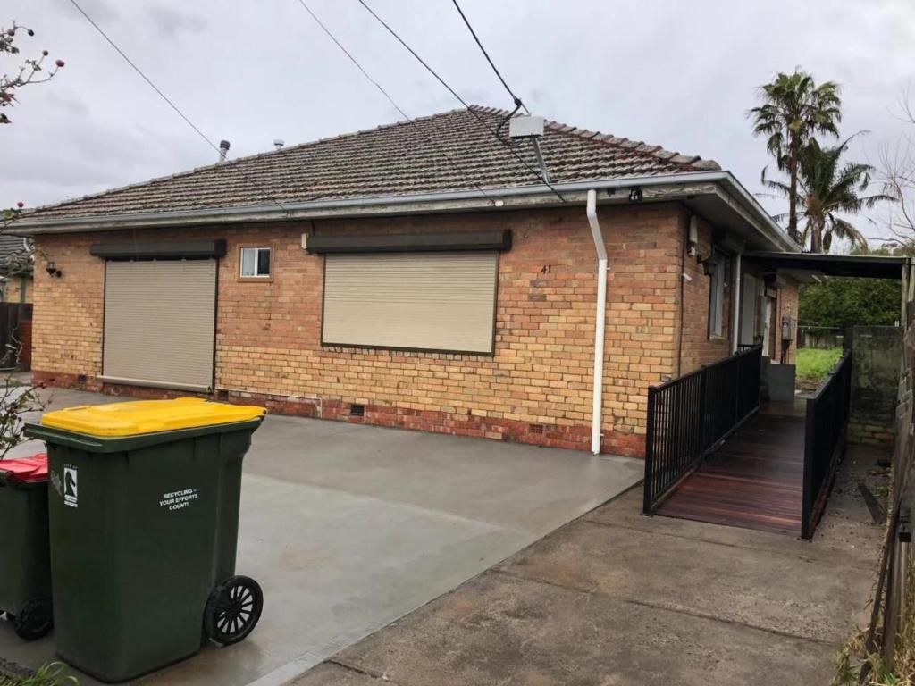
<path fill-rule="evenodd" d="M 326 345 L 493 351 L 499 253 L 327 256 Z"/>

